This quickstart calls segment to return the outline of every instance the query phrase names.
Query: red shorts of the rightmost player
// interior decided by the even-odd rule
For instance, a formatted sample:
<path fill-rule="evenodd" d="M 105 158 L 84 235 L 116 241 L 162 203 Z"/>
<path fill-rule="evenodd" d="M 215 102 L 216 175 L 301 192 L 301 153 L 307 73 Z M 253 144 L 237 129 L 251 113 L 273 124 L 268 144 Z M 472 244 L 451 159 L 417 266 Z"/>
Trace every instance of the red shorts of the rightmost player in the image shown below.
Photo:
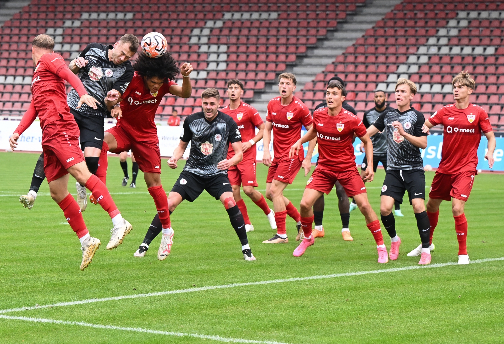
<path fill-rule="evenodd" d="M 476 171 L 466 171 L 456 175 L 446 175 L 436 171 L 430 185 L 429 198 L 451 201 L 452 197 L 467 201 L 471 193 Z"/>

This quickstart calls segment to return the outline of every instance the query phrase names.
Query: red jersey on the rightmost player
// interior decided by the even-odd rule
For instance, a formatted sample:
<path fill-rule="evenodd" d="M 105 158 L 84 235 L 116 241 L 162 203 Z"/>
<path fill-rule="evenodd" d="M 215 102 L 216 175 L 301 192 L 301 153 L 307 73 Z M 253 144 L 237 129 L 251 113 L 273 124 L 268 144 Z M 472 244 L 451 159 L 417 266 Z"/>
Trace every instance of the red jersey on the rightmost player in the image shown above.
<path fill-rule="evenodd" d="M 455 175 L 475 171 L 478 165 L 477 152 L 481 132 L 492 131 L 486 111 L 479 105 L 471 103 L 463 110 L 451 104 L 434 112 L 429 122 L 445 127 L 441 161 L 437 167 L 439 173 Z"/>

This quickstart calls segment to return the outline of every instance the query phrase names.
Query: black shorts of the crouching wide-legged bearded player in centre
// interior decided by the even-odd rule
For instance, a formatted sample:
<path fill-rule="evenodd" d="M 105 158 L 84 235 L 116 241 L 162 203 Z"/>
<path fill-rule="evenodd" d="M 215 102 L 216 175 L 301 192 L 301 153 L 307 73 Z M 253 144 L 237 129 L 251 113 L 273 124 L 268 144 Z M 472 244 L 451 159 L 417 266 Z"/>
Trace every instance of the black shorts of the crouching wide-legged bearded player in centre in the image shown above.
<path fill-rule="evenodd" d="M 233 192 L 227 175 L 218 174 L 214 176 L 198 176 L 188 171 L 182 171 L 178 176 L 175 185 L 171 188 L 172 192 L 178 193 L 183 200 L 193 202 L 203 190 L 206 190 L 210 196 L 218 200 L 225 192 Z"/>

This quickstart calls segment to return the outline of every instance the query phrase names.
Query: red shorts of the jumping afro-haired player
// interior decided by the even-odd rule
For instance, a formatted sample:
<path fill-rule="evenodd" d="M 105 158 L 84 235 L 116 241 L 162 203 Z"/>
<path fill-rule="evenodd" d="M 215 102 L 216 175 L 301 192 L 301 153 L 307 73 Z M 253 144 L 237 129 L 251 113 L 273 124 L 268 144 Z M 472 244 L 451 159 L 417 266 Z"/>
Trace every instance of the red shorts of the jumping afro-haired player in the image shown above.
<path fill-rule="evenodd" d="M 119 154 L 131 149 L 138 168 L 143 173 L 161 173 L 161 152 L 157 136 L 152 141 L 136 141 L 120 126 L 112 127 L 105 131 L 114 135 L 117 141 L 117 148 L 112 153 Z"/>

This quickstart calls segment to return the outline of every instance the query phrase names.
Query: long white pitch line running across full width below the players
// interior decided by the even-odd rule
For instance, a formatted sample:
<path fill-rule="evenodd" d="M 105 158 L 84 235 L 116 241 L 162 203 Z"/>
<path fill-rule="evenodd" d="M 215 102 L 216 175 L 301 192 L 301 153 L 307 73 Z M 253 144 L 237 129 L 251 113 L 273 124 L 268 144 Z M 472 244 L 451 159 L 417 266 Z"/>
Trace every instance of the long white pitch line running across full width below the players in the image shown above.
<path fill-rule="evenodd" d="M 499 258 L 486 258 L 486 259 L 478 259 L 471 261 L 471 264 L 478 263 L 486 263 L 486 262 L 494 262 L 494 261 L 504 261 L 504 257 Z M 192 293 L 206 290 L 215 290 L 215 289 L 227 289 L 227 288 L 235 288 L 235 287 L 244 287 L 244 286 L 257 286 L 264 284 L 275 284 L 275 283 L 284 283 L 284 282 L 297 282 L 297 281 L 307 281 L 307 280 L 320 280 L 327 278 L 338 278 L 338 277 L 347 277 L 347 276 L 360 276 L 360 275 L 369 275 L 369 274 L 381 274 L 381 273 L 389 273 L 389 272 L 398 272 L 398 271 L 406 271 L 406 270 L 418 270 L 418 269 L 429 269 L 429 268 L 443 268 L 451 265 L 457 265 L 455 262 L 449 263 L 436 263 L 429 265 L 413 265 L 407 266 L 403 268 L 392 268 L 392 269 L 381 269 L 381 270 L 370 270 L 370 271 L 358 271 L 358 272 L 350 272 L 350 273 L 342 273 L 342 274 L 332 274 L 332 275 L 317 275 L 317 276 L 308 276 L 308 277 L 295 277 L 295 278 L 287 278 L 281 280 L 269 280 L 269 281 L 257 281 L 257 282 L 245 282 L 245 283 L 232 283 L 232 284 L 224 284 L 220 286 L 208 286 L 208 287 L 199 287 L 199 288 L 190 288 L 190 289 L 179 289 L 179 290 L 170 290 L 156 293 L 147 293 L 147 294 L 133 294 L 133 295 L 123 295 L 123 296 L 114 296 L 114 297 L 104 297 L 99 299 L 87 299 L 80 301 L 70 301 L 70 302 L 59 302 L 53 303 L 49 305 L 35 305 L 31 307 L 19 307 L 19 308 L 11 308 L 11 309 L 3 309 L 0 310 L 0 314 L 10 313 L 10 312 L 19 312 L 26 310 L 34 310 L 34 309 L 42 309 L 42 308 L 52 308 L 52 307 L 60 307 L 60 306 L 73 306 L 73 305 L 82 305 L 86 303 L 94 303 L 94 302 L 103 302 L 103 301 L 113 301 L 113 300 L 123 300 L 123 299 L 136 299 L 141 297 L 151 297 L 151 296 L 161 296 L 161 295 L 170 295 L 170 294 L 182 294 L 182 293 Z"/>

